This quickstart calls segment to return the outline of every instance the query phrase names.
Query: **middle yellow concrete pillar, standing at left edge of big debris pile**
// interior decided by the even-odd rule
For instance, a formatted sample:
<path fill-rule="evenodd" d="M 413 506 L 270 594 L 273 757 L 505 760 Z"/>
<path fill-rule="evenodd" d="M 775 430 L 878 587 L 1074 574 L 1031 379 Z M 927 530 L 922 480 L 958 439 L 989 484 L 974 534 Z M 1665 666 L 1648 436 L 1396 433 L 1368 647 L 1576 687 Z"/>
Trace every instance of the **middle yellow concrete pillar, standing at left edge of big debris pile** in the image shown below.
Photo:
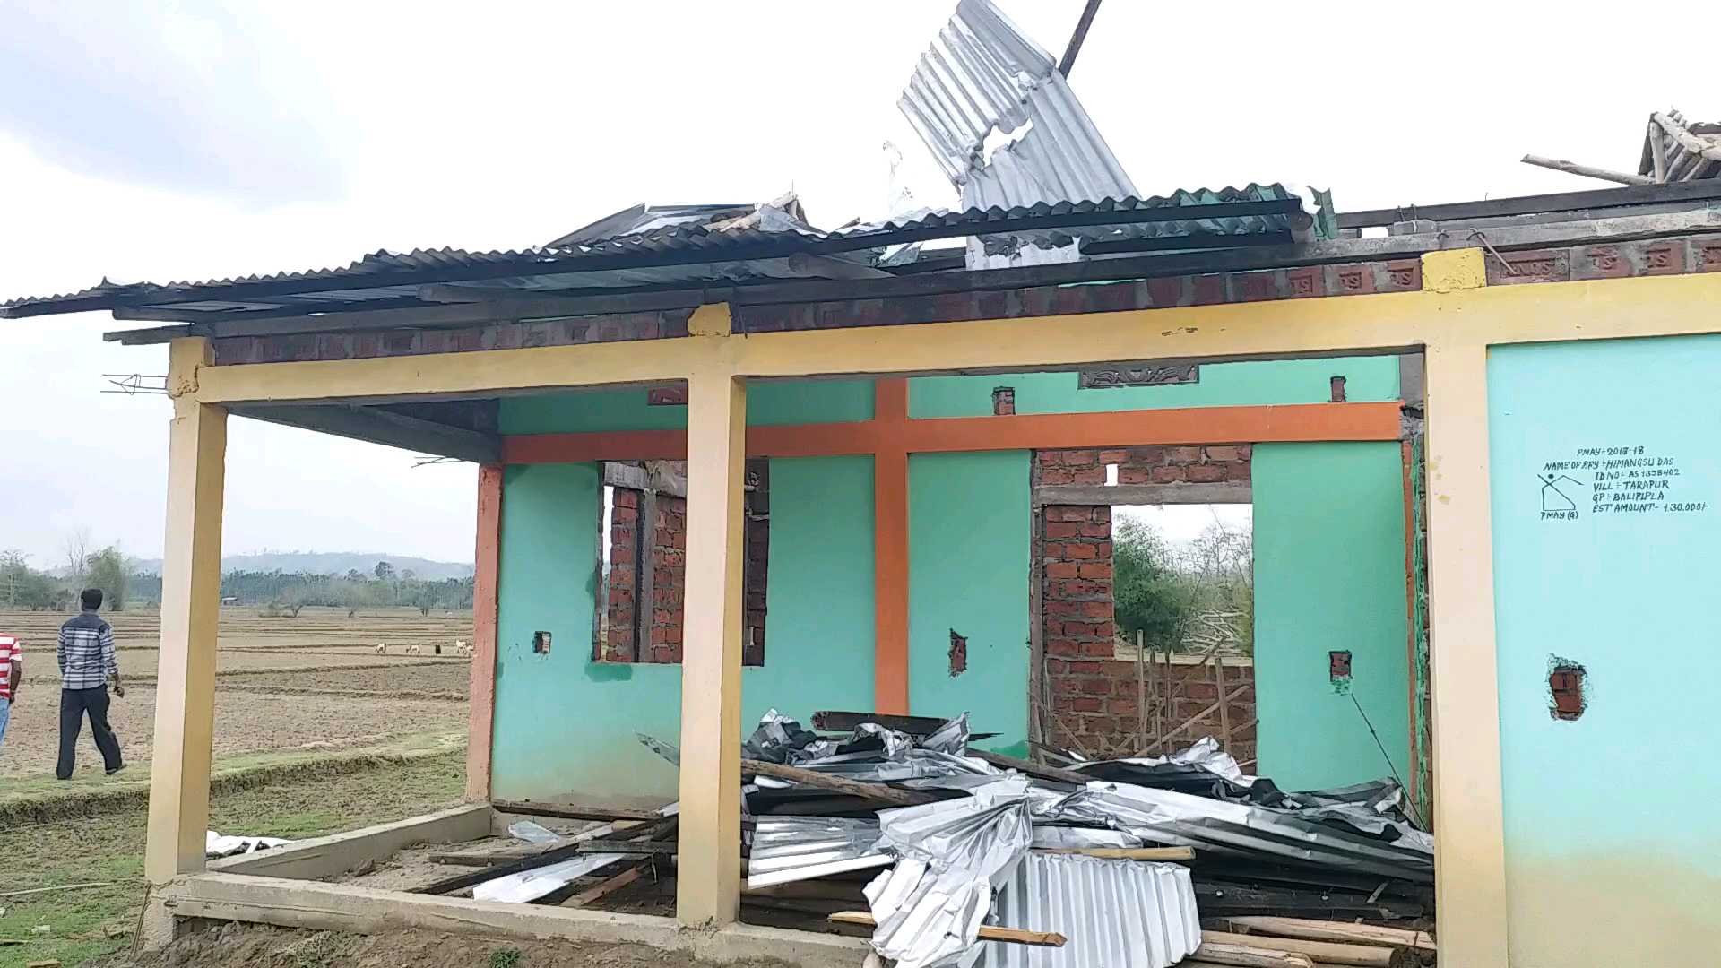
<path fill-rule="evenodd" d="M 711 927 L 740 915 L 747 388 L 726 369 L 695 370 L 687 403 L 687 618 L 675 909 L 683 925 Z"/>

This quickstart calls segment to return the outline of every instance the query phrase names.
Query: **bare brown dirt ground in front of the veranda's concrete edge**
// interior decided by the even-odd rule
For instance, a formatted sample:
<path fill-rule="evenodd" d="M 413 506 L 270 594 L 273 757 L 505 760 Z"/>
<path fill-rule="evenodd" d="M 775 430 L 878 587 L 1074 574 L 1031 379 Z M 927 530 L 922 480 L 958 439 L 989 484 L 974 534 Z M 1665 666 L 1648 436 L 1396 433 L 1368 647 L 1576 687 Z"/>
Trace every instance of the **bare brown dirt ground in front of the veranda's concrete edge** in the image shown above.
<path fill-rule="evenodd" d="M 706 968 L 712 963 L 638 944 L 496 940 L 423 930 L 341 935 L 220 925 L 189 934 L 141 959 L 115 956 L 103 968 Z M 786 961 L 731 961 L 786 968 Z"/>

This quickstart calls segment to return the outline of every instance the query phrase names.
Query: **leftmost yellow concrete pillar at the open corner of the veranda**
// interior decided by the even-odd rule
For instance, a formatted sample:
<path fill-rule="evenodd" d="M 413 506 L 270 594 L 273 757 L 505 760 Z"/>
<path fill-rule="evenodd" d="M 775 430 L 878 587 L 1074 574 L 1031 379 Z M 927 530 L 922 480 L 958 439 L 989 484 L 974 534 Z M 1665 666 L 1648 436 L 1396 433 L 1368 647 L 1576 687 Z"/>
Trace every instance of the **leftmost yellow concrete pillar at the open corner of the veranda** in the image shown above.
<path fill-rule="evenodd" d="M 208 339 L 174 339 L 167 388 L 167 544 L 162 563 L 162 649 L 150 760 L 145 875 L 153 884 L 203 870 L 215 730 L 215 632 L 220 620 L 220 520 L 227 410 L 198 403 Z"/>

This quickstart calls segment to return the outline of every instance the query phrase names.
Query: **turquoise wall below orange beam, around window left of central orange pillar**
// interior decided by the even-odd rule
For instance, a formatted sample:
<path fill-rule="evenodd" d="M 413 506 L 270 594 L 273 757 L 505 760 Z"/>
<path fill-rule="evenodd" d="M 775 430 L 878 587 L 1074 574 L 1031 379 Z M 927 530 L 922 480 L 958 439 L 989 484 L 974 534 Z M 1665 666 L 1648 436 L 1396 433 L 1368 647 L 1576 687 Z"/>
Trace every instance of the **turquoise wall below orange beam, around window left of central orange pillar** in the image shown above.
<path fill-rule="evenodd" d="M 635 739 L 678 742 L 682 667 L 592 661 L 597 465 L 509 467 L 503 482 L 492 789 L 499 799 L 675 797 L 675 768 Z M 742 717 L 773 704 L 873 704 L 873 462 L 771 462 L 766 665 Z M 534 630 L 551 655 L 532 653 Z"/>

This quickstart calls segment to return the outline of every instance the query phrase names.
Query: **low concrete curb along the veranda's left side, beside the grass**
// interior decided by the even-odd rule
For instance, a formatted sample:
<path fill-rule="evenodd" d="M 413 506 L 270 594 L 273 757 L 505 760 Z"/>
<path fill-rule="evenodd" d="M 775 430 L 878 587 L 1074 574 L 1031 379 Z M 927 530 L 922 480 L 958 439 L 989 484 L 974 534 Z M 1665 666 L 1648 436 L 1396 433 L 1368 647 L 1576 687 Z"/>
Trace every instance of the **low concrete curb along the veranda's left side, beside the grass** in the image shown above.
<path fill-rule="evenodd" d="M 363 830 L 298 841 L 296 844 L 256 854 L 222 858 L 210 861 L 208 870 L 317 880 L 353 870 L 365 861 L 386 859 L 394 851 L 411 847 L 413 844 L 460 844 L 487 835 L 490 835 L 490 806 L 480 803 L 454 806 L 394 823 L 379 823 Z"/>

